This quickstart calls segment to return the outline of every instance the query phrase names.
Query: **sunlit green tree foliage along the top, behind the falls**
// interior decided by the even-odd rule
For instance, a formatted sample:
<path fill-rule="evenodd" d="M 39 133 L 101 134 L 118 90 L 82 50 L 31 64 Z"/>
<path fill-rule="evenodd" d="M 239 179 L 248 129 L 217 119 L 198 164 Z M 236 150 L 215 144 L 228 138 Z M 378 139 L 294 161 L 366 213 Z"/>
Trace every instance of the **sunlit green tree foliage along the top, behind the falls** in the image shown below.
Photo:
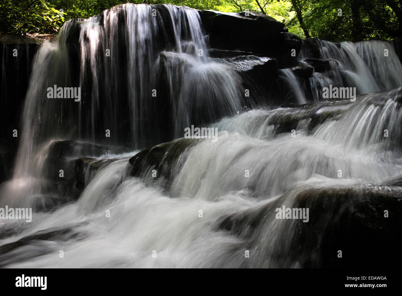
<path fill-rule="evenodd" d="M 57 33 L 67 19 L 88 18 L 127 2 L 265 13 L 301 38 L 359 41 L 402 37 L 401 0 L 0 0 L 0 33 Z"/>

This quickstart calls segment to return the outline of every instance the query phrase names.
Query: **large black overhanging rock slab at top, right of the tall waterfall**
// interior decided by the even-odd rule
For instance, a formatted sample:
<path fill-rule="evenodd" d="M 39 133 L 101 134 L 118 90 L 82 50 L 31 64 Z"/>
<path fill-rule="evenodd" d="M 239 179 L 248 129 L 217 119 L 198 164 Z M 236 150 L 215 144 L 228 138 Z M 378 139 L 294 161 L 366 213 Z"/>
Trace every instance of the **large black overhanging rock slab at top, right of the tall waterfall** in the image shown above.
<path fill-rule="evenodd" d="M 201 19 L 212 48 L 240 50 L 256 55 L 276 58 L 279 68 L 297 65 L 296 56 L 301 49 L 299 37 L 265 14 L 256 12 L 217 12 L 201 10 Z"/>

